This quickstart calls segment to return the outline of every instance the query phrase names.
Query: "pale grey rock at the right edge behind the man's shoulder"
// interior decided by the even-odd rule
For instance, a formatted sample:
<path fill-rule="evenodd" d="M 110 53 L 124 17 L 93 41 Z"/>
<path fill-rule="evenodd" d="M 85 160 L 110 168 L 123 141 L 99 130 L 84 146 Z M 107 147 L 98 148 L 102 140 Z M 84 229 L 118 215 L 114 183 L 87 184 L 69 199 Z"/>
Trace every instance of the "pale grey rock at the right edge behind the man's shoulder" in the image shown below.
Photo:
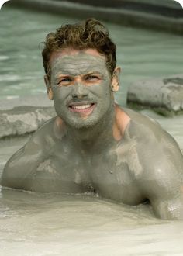
<path fill-rule="evenodd" d="M 164 116 L 183 113 L 183 74 L 137 81 L 128 88 L 127 104 L 136 109 L 154 109 Z"/>

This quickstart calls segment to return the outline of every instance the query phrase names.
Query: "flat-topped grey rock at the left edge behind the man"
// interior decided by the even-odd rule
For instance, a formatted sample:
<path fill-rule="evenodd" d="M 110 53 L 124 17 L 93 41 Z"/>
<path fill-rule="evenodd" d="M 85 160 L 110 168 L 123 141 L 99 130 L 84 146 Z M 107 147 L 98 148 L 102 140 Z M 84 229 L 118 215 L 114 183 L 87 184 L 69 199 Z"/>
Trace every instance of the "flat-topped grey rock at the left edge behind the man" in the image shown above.
<path fill-rule="evenodd" d="M 46 95 L 1 100 L 0 139 L 33 133 L 54 116 L 53 102 Z"/>

